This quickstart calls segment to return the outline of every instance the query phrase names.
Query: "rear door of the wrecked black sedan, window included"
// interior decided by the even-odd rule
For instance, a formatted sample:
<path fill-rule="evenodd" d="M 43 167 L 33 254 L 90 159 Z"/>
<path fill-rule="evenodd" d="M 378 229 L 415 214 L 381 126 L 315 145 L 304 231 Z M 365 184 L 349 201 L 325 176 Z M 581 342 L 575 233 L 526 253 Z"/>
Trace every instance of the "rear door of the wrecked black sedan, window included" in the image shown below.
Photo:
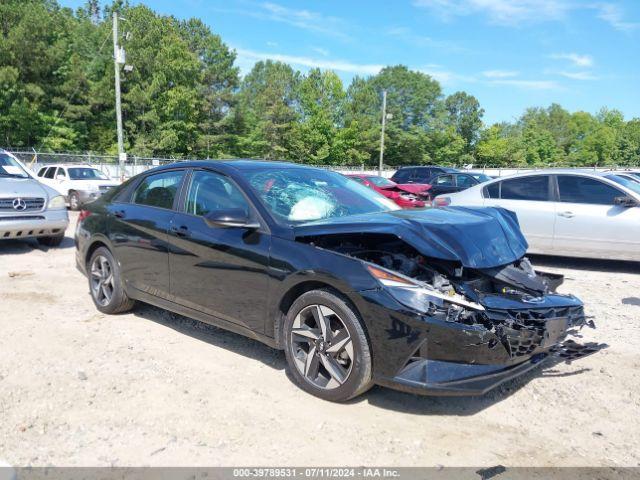
<path fill-rule="evenodd" d="M 169 298 L 168 232 L 185 171 L 143 177 L 130 201 L 112 203 L 109 236 L 128 287 Z"/>

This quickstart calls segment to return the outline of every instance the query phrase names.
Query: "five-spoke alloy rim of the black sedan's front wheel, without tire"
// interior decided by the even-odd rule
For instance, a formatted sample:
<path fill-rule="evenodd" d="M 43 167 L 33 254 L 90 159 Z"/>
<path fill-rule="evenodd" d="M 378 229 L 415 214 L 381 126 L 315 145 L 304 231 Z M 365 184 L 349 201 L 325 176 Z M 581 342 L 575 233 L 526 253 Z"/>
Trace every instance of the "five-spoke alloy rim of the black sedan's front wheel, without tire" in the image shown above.
<path fill-rule="evenodd" d="M 324 305 L 309 305 L 298 313 L 291 329 L 291 350 L 300 374 L 328 390 L 347 381 L 355 358 L 346 325 Z"/>

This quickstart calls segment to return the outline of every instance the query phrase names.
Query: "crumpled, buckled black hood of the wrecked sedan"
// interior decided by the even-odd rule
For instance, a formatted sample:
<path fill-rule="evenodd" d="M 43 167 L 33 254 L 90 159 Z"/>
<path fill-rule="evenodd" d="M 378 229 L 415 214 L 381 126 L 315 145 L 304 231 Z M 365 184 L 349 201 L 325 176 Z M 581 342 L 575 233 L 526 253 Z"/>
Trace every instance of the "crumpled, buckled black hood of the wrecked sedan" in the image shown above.
<path fill-rule="evenodd" d="M 424 256 L 477 269 L 513 263 L 528 248 L 515 213 L 502 208 L 395 210 L 294 227 L 296 238 L 358 233 L 395 235 Z"/>

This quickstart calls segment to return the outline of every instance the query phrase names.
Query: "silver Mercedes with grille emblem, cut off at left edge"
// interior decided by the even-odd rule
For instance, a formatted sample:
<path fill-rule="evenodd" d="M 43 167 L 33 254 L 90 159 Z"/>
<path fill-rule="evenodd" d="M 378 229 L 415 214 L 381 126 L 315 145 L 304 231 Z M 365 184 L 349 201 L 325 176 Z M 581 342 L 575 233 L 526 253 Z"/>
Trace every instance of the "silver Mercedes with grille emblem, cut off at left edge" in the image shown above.
<path fill-rule="evenodd" d="M 64 197 L 0 150 L 0 240 L 36 238 L 42 245 L 55 247 L 62 242 L 67 225 Z"/>

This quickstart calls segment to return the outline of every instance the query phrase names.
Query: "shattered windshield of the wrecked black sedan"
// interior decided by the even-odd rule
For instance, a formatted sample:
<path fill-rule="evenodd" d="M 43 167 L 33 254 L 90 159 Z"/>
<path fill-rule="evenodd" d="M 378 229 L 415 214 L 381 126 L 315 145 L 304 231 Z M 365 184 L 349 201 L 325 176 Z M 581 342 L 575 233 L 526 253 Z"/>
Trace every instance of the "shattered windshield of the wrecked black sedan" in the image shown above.
<path fill-rule="evenodd" d="M 285 167 L 242 174 L 273 216 L 288 225 L 400 208 L 375 190 L 335 172 Z"/>

